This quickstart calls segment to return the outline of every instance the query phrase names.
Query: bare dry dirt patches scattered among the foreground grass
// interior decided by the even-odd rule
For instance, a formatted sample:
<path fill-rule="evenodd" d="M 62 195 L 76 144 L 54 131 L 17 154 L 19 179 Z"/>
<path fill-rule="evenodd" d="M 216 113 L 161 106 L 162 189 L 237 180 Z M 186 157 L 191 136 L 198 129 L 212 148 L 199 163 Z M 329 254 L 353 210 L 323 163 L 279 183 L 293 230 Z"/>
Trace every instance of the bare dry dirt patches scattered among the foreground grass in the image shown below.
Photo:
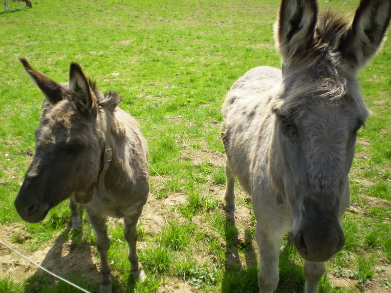
<path fill-rule="evenodd" d="M 208 161 L 213 166 L 221 167 L 224 166 L 225 163 L 223 154 L 209 150 L 194 151 L 193 149 L 192 151 L 188 151 L 185 149 L 182 152 L 181 157 L 192 160 L 195 165 Z M 155 187 L 162 184 L 161 180 L 164 180 L 164 178 L 159 176 L 152 178 L 152 182 Z M 213 197 L 218 199 L 222 198 L 223 193 L 224 188 L 222 186 L 213 184 L 210 185 L 208 190 L 208 194 L 211 194 Z M 238 193 L 238 196 L 242 196 L 243 198 L 247 197 L 247 195 L 240 189 L 238 190 Z M 148 231 L 148 233 L 158 234 L 168 220 L 175 218 L 180 221 L 180 217 L 177 216 L 178 212 L 175 208 L 185 204 L 186 199 L 186 194 L 182 194 L 180 192 L 169 193 L 169 195 L 163 199 L 156 199 L 156 197 L 151 194 L 142 214 L 141 225 L 143 229 Z M 369 205 L 376 206 L 379 203 L 383 204 L 381 199 L 370 197 L 366 197 L 366 199 L 368 200 Z M 219 208 L 222 209 L 222 204 Z M 356 213 L 359 216 L 364 215 L 364 211 L 354 205 L 354 203 L 352 203 L 348 212 Z M 197 224 L 197 221 L 200 222 L 201 219 L 197 219 L 195 216 L 193 221 Z M 245 234 L 245 229 L 243 228 L 248 227 L 251 224 L 251 212 L 247 207 L 240 205 L 237 206 L 237 210 L 235 212 L 235 224 L 239 231 L 239 241 L 248 241 L 248 235 Z M 109 225 L 122 225 L 122 221 L 110 218 Z M 62 239 L 64 238 L 61 237 L 61 234 L 59 234 L 58 236 L 56 235 L 56 240 L 52 243 L 52 245 L 36 251 L 29 251 L 23 249 L 23 246 L 18 244 L 18 241 L 23 242 L 26 238 L 31 237 L 28 233 L 23 232 L 21 228 L 22 224 L 0 226 L 0 240 L 20 251 L 31 260 L 42 265 L 44 268 L 61 276 L 66 276 L 69 272 L 72 274 L 80 273 L 91 282 L 99 282 L 99 258 L 97 257 L 96 252 L 92 251 L 91 247 L 88 245 L 78 246 L 71 240 L 63 241 Z M 15 239 L 18 241 L 15 242 Z M 250 256 L 248 259 L 252 259 L 252 261 L 254 261 L 257 259 L 257 246 L 254 240 L 250 241 L 252 241 L 252 246 L 254 247 L 254 255 Z M 143 247 L 144 245 L 146 244 L 142 242 L 139 243 L 139 247 Z M 237 256 L 233 253 L 233 258 L 235 257 Z M 246 266 L 248 259 L 239 260 L 242 262 L 243 267 Z M 236 260 L 233 259 L 232 261 Z M 229 260 L 226 260 L 226 262 L 229 263 Z M 83 266 L 80 264 L 83 264 Z M 376 273 L 373 280 L 369 281 L 365 287 L 362 288 L 361 292 L 390 293 L 391 287 L 387 287 L 387 284 L 391 284 L 391 262 L 385 258 L 380 259 L 375 264 L 375 268 Z M 38 269 L 35 265 L 0 244 L 0 274 L 2 276 L 9 276 L 14 281 L 20 282 L 40 273 L 43 273 L 42 270 Z M 112 273 L 115 275 L 115 272 Z M 335 276 L 328 273 L 328 278 L 334 287 L 356 288 L 358 286 L 357 281 L 348 277 Z M 122 291 L 119 289 L 117 292 Z M 165 285 L 158 289 L 158 292 L 189 293 L 198 291 L 194 287 L 183 282 L 183 280 L 178 279 L 169 280 Z"/>

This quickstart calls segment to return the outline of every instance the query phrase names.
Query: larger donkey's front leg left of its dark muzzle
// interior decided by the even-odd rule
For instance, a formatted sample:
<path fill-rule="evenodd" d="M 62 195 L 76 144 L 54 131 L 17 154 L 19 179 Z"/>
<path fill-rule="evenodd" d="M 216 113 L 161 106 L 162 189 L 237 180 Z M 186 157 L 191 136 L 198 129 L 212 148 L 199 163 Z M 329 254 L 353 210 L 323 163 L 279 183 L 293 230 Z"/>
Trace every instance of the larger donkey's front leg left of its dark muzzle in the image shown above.
<path fill-rule="evenodd" d="M 260 251 L 260 271 L 258 272 L 258 286 L 260 293 L 273 293 L 279 282 L 278 261 L 283 235 L 266 233 L 256 224 L 255 236 Z"/>

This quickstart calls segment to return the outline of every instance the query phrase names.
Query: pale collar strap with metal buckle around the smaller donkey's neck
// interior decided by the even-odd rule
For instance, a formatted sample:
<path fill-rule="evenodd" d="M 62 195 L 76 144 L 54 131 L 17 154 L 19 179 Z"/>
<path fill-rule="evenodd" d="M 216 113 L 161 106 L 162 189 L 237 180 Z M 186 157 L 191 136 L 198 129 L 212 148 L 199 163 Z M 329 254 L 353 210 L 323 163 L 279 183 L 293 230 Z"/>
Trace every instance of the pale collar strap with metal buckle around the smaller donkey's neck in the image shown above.
<path fill-rule="evenodd" d="M 98 189 L 98 195 L 101 198 L 106 198 L 107 194 L 106 194 L 106 188 L 105 188 L 105 173 L 106 173 L 107 169 L 109 168 L 109 164 L 112 159 L 111 131 L 110 131 L 109 119 L 107 119 L 106 110 L 104 108 L 102 108 L 101 106 L 99 106 L 98 109 L 99 109 L 99 113 L 101 115 L 102 124 L 104 126 L 103 129 L 105 132 L 105 150 L 104 150 L 102 157 L 101 157 L 101 165 L 103 164 L 103 166 L 102 166 L 102 169 L 101 169 L 99 176 L 98 176 L 97 189 Z"/>

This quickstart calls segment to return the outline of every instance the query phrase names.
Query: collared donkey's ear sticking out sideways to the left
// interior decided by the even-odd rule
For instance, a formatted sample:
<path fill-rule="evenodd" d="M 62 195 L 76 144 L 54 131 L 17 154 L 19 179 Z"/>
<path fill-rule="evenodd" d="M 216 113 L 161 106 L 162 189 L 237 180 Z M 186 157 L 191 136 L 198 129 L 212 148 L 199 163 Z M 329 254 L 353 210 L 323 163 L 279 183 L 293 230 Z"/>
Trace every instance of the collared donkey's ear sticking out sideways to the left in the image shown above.
<path fill-rule="evenodd" d="M 26 70 L 32 82 L 40 88 L 43 95 L 45 96 L 46 101 L 50 105 L 55 105 L 59 101 L 63 100 L 63 87 L 60 84 L 57 84 L 55 81 L 52 81 L 42 73 L 39 73 L 37 70 L 31 67 L 25 58 L 20 58 L 19 60 L 22 62 L 24 69 Z"/>

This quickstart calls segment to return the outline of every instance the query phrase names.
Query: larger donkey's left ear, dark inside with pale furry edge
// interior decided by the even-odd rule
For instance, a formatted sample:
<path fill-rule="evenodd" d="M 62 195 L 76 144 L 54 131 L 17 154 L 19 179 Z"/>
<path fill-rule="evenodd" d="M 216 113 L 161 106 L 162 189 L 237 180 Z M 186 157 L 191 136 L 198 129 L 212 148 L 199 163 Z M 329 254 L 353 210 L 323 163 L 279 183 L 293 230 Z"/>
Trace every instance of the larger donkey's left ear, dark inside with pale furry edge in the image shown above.
<path fill-rule="evenodd" d="M 275 34 L 283 64 L 291 63 L 293 57 L 300 58 L 310 48 L 317 15 L 316 0 L 281 1 Z"/>

